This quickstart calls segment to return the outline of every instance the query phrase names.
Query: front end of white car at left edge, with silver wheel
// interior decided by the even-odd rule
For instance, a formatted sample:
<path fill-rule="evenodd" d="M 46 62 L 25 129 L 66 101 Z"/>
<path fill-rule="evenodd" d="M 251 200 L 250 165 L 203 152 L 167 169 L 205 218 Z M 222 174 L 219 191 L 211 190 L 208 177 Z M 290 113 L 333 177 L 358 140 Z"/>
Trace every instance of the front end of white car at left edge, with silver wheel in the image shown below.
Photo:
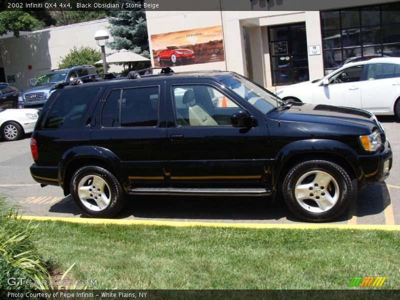
<path fill-rule="evenodd" d="M 33 131 L 37 120 L 37 109 L 0 108 L 1 137 L 7 141 L 16 140 L 24 133 Z"/>

